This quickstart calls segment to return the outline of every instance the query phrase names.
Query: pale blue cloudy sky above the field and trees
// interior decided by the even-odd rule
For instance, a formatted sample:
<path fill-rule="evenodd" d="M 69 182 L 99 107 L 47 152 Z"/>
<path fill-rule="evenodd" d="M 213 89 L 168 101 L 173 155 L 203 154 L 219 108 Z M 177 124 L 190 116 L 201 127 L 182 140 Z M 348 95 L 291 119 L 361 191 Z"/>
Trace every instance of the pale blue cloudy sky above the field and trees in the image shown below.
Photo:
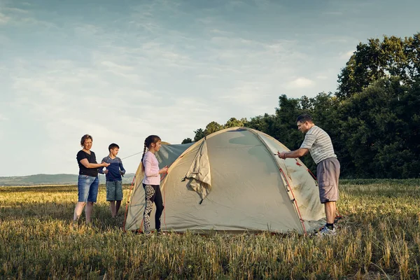
<path fill-rule="evenodd" d="M 77 174 L 83 134 L 135 172 L 144 139 L 335 92 L 368 38 L 420 31 L 417 0 L 0 0 L 0 176 Z M 130 155 L 133 155 L 130 157 Z M 127 158 L 130 157 L 130 158 Z"/>

